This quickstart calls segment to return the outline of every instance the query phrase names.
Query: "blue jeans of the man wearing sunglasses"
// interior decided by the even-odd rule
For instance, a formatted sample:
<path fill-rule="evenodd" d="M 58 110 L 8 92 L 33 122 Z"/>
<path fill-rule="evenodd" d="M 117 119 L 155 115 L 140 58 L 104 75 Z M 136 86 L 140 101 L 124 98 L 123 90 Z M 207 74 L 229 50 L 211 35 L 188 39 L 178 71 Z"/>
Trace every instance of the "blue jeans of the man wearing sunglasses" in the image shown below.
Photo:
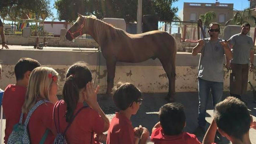
<path fill-rule="evenodd" d="M 198 78 L 198 125 L 200 127 L 205 127 L 206 125 L 205 115 L 210 90 L 212 96 L 212 104 L 214 107 L 218 102 L 221 101 L 223 95 L 223 82 L 207 81 Z"/>

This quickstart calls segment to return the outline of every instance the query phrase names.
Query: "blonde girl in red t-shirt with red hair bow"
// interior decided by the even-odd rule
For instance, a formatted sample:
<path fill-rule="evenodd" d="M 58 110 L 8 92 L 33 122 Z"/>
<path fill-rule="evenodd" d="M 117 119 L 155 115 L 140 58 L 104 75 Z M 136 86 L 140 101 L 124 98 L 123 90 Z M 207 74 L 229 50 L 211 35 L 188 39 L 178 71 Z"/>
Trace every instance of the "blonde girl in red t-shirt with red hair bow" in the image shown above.
<path fill-rule="evenodd" d="M 36 102 L 39 100 L 49 101 L 38 106 L 29 119 L 27 129 L 31 144 L 38 144 L 47 129 L 49 133 L 45 143 L 53 143 L 54 141 L 52 111 L 54 104 L 58 101 L 56 97 L 57 82 L 58 73 L 53 68 L 37 67 L 31 72 L 25 102 L 22 106 L 22 113 L 25 114 L 23 120 L 26 119 L 27 113 Z"/>

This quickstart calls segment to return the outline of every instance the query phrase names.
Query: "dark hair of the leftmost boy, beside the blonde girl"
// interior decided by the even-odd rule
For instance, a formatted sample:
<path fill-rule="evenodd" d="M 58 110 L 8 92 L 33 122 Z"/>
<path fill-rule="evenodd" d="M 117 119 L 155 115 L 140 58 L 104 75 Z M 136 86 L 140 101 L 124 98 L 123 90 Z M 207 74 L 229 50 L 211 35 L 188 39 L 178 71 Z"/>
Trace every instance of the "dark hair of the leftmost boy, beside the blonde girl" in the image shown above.
<path fill-rule="evenodd" d="M 27 71 L 32 72 L 36 67 L 40 67 L 40 63 L 32 58 L 19 59 L 14 67 L 16 81 L 22 80 Z"/>

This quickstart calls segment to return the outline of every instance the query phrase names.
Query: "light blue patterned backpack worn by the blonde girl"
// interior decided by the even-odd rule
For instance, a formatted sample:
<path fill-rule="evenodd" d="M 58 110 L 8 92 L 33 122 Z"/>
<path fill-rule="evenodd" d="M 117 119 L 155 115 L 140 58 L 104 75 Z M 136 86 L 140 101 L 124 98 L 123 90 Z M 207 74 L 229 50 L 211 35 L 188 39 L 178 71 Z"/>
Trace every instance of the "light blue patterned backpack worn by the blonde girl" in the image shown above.
<path fill-rule="evenodd" d="M 21 116 L 19 118 L 19 123 L 17 123 L 16 125 L 13 126 L 13 131 L 8 138 L 8 144 L 23 144 L 23 143 L 29 144 L 30 143 L 29 133 L 27 130 L 29 119 L 30 119 L 32 113 L 35 111 L 35 109 L 37 109 L 38 106 L 40 106 L 41 104 L 43 104 L 45 102 L 49 102 L 49 101 L 40 100 L 31 108 L 31 110 L 29 111 L 29 113 L 26 117 L 24 124 L 22 124 L 22 119 L 23 119 L 24 113 L 21 113 Z M 45 134 L 43 135 L 43 137 L 40 141 L 40 144 L 43 144 L 45 142 L 48 132 L 49 132 L 49 129 L 46 129 Z"/>

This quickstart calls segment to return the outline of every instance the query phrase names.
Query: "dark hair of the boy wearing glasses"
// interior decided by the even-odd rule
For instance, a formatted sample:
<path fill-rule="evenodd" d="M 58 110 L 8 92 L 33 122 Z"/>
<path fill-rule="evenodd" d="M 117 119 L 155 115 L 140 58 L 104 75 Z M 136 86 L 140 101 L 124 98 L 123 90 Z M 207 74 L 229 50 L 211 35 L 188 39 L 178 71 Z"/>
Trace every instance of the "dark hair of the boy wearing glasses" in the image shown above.
<path fill-rule="evenodd" d="M 114 90 L 113 101 L 115 106 L 124 111 L 131 103 L 141 98 L 141 91 L 133 83 L 118 82 Z"/>

